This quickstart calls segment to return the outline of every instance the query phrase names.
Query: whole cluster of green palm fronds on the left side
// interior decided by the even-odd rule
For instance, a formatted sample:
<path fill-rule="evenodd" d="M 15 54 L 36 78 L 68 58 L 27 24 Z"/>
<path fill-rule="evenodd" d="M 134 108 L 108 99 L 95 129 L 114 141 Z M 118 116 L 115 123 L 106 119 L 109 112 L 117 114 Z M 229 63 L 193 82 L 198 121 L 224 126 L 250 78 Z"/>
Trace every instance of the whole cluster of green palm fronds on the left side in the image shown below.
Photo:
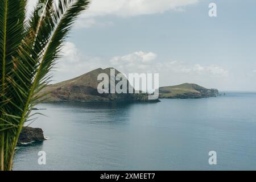
<path fill-rule="evenodd" d="M 49 82 L 68 32 L 88 0 L 39 0 L 26 21 L 25 0 L 0 1 L 0 169 L 11 170 L 19 134 Z M 43 12 L 38 15 L 38 12 Z"/>

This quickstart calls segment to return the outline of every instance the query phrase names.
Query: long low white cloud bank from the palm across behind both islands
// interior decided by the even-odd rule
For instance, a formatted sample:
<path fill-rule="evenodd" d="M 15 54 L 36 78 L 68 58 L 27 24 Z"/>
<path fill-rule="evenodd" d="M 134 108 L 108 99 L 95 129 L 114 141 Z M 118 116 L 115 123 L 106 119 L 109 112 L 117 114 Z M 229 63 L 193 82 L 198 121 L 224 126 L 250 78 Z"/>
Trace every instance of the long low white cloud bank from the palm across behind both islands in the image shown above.
<path fill-rule="evenodd" d="M 82 55 L 75 44 L 66 42 L 63 47 L 63 57 L 57 64 L 57 71 L 67 76 L 83 74 L 99 67 L 114 67 L 123 73 L 164 73 L 166 76 L 188 75 L 226 78 L 229 71 L 219 65 L 189 65 L 183 61 L 160 62 L 156 60 L 154 52 L 137 51 L 123 56 L 114 56 L 110 61 L 103 61 L 99 57 Z M 72 68 L 72 69 L 71 69 Z M 254 71 L 256 72 L 256 71 Z"/>

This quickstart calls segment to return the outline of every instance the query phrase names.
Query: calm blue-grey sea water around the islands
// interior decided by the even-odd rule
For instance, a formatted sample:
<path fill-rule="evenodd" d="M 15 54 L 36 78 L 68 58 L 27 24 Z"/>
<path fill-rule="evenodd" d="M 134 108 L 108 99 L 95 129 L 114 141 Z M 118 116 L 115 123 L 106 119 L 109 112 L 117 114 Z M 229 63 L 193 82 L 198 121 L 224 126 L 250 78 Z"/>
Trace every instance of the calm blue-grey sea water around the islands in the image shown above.
<path fill-rule="evenodd" d="M 20 147 L 14 169 L 256 169 L 255 93 L 161 101 L 41 104 L 48 117 L 32 126 L 50 139 Z M 215 166 L 209 151 L 217 152 Z"/>

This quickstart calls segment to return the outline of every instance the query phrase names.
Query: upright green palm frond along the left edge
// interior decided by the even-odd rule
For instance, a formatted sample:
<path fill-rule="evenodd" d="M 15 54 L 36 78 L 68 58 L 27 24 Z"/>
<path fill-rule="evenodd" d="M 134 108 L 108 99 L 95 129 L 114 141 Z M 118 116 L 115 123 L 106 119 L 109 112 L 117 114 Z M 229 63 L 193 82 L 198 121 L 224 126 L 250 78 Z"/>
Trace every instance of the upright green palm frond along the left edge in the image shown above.
<path fill-rule="evenodd" d="M 0 114 L 1 118 L 7 119 L 11 108 L 9 101 L 9 82 L 7 77 L 11 74 L 13 56 L 16 56 L 16 49 L 20 45 L 24 35 L 24 19 L 26 14 L 27 1 L 3 0 L 0 1 Z M 7 118 L 6 118 L 7 117 Z M 0 169 L 5 169 L 5 153 L 9 154 L 9 134 L 4 130 L 10 129 L 5 126 L 6 122 L 1 121 L 1 142 L 0 142 Z M 6 150 L 5 150 L 6 148 Z"/>

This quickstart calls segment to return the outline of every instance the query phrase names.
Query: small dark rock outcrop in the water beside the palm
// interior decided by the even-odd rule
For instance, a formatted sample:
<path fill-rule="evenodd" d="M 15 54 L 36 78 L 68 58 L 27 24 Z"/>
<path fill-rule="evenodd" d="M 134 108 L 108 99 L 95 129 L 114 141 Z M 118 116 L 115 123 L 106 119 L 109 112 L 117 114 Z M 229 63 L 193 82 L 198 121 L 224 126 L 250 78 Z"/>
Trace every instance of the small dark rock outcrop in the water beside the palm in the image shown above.
<path fill-rule="evenodd" d="M 18 143 L 26 143 L 33 141 L 43 141 L 44 134 L 42 129 L 32 128 L 32 127 L 23 127 L 22 132 L 20 133 Z"/>

